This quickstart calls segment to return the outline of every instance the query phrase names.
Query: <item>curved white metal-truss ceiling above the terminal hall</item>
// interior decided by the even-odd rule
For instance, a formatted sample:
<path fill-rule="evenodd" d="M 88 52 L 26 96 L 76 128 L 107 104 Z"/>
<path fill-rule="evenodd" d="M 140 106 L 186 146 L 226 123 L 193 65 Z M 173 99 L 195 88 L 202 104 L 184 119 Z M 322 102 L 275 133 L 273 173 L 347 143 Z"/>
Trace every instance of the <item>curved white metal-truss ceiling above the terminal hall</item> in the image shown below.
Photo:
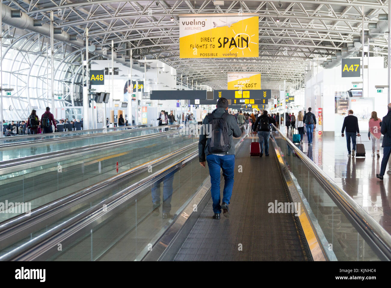
<path fill-rule="evenodd" d="M 222 4 L 219 1 L 217 4 Z M 85 39 L 98 49 L 115 43 L 115 52 L 133 59 L 159 59 L 183 76 L 214 89 L 226 88 L 227 72 L 261 72 L 262 88 L 276 89 L 283 80 L 303 81 L 308 62 L 330 58 L 343 51 L 353 37 L 388 13 L 384 0 L 280 0 L 280 1 L 139 1 L 139 0 L 5 0 L 43 23 Z M 179 58 L 179 14 L 257 13 L 259 15 L 258 58 Z M 370 24 L 373 23 L 373 24 Z M 5 26 L 10 34 L 13 27 Z M 72 44 L 68 44 L 72 47 Z M 387 37 L 370 42 L 371 51 L 387 55 Z M 77 47 L 80 49 L 80 47 Z M 110 49 L 110 48 L 109 48 Z M 71 49 L 72 50 L 72 49 Z M 320 62 L 320 63 L 321 63 Z"/>

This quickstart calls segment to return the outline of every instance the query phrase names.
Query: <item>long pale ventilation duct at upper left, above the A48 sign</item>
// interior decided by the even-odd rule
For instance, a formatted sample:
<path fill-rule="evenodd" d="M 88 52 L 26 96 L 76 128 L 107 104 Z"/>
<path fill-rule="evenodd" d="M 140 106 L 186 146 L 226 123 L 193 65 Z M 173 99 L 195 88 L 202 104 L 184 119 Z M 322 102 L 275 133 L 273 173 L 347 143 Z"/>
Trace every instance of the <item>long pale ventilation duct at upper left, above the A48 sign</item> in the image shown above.
<path fill-rule="evenodd" d="M 10 25 L 12 27 L 20 28 L 20 29 L 27 29 L 29 31 L 36 32 L 41 35 L 45 35 L 45 36 L 50 37 L 50 25 L 42 24 L 39 21 L 29 17 L 26 13 L 23 13 L 22 11 L 13 9 L 7 5 L 4 5 L 4 4 L 0 4 L 0 5 L 2 5 L 1 17 L 2 17 L 2 21 L 4 24 Z M 55 29 L 57 29 L 57 28 L 55 28 Z M 54 37 L 54 39 L 56 39 L 58 41 L 70 43 L 74 46 L 78 46 L 78 47 L 85 49 L 85 41 L 80 38 L 77 38 L 75 35 L 70 35 L 64 31 L 59 30 L 59 31 L 56 31 L 55 34 L 53 34 L 53 37 Z M 102 49 L 99 49 L 98 47 L 96 47 L 96 50 L 93 53 L 105 56 L 103 54 Z M 121 63 L 125 66 L 129 66 L 129 64 L 130 64 L 129 60 L 126 61 L 125 58 L 122 58 L 122 55 L 118 54 L 118 56 L 117 56 L 117 53 L 115 53 L 115 52 L 112 54 L 113 54 L 115 62 Z M 109 58 L 109 59 L 111 59 L 111 58 Z M 140 72 L 144 72 L 144 69 L 141 68 L 140 65 L 133 64 L 132 68 L 136 69 Z"/>

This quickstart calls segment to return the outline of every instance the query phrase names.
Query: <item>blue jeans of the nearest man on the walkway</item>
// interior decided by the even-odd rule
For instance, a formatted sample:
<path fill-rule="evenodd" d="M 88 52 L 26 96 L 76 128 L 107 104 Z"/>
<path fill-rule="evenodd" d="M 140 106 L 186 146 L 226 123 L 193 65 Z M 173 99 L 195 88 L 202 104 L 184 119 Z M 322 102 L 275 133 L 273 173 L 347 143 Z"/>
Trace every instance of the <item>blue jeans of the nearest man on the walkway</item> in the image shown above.
<path fill-rule="evenodd" d="M 233 188 L 233 176 L 235 174 L 235 155 L 218 156 L 209 154 L 206 156 L 208 162 L 210 183 L 212 187 L 213 212 L 221 213 L 220 206 L 220 169 L 224 176 L 224 190 L 222 192 L 222 202 L 230 204 Z"/>

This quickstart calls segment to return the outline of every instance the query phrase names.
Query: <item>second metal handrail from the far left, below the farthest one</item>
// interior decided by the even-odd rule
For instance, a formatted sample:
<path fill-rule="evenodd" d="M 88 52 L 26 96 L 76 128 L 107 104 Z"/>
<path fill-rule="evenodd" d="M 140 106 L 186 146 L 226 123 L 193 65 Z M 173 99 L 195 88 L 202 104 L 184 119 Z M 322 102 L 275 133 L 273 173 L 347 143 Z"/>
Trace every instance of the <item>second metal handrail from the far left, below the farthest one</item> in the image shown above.
<path fill-rule="evenodd" d="M 195 126 L 195 127 L 198 127 L 198 126 Z M 118 146 L 118 145 L 128 143 L 130 141 L 135 141 L 135 142 L 141 141 L 141 140 L 154 138 L 154 137 L 158 137 L 158 136 L 178 133 L 179 131 L 180 131 L 179 129 L 176 129 L 176 130 L 172 130 L 172 131 L 157 132 L 157 133 L 149 134 L 146 136 L 134 136 L 134 137 L 129 137 L 129 138 L 121 139 L 121 140 L 113 140 L 113 141 L 109 141 L 109 142 L 105 142 L 105 143 L 86 145 L 86 146 L 82 146 L 82 147 L 71 149 L 71 150 L 54 151 L 54 152 L 49 152 L 49 153 L 44 153 L 44 154 L 38 154 L 38 155 L 32 155 L 32 156 L 27 156 L 27 157 L 22 157 L 22 158 L 10 159 L 7 161 L 0 162 L 0 175 L 2 174 L 2 171 L 4 169 L 9 169 L 10 167 L 14 167 L 14 166 L 30 164 L 32 162 L 48 160 L 51 158 L 60 158 L 62 156 L 67 156 L 67 155 L 71 155 L 71 154 L 75 155 L 76 153 L 80 154 L 81 152 L 85 152 L 88 150 L 92 151 L 92 150 L 96 150 L 96 149 L 102 149 L 104 147 L 112 148 L 113 145 Z M 6 171 L 6 172 L 10 172 L 10 171 Z"/>

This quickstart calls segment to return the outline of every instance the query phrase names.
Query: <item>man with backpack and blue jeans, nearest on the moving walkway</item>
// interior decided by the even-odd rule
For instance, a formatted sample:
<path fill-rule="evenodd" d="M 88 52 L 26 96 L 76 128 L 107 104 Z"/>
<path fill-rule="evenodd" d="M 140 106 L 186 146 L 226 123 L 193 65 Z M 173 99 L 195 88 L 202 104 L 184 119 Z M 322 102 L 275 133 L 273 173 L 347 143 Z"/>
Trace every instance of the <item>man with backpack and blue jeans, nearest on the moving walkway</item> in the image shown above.
<path fill-rule="evenodd" d="M 213 201 L 213 219 L 220 219 L 223 215 L 229 217 L 228 205 L 232 195 L 233 178 L 235 172 L 235 145 L 233 137 L 240 137 L 242 131 L 236 123 L 236 118 L 228 113 L 228 100 L 220 98 L 216 109 L 204 118 L 200 129 L 198 142 L 199 162 L 205 168 L 208 162 L 210 192 Z M 220 205 L 220 170 L 224 176 L 224 190 Z"/>

